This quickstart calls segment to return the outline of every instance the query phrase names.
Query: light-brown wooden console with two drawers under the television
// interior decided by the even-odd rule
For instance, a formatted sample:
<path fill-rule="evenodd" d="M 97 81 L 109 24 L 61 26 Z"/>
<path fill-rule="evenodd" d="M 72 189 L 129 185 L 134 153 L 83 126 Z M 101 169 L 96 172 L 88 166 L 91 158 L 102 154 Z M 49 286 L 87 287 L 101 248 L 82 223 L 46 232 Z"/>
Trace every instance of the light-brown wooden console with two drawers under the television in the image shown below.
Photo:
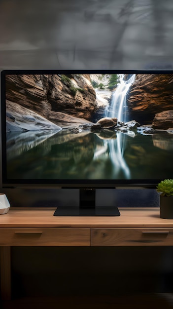
<path fill-rule="evenodd" d="M 11 246 L 173 246 L 173 220 L 159 208 L 119 208 L 120 217 L 55 217 L 56 208 L 11 208 L 0 216 L 1 299 L 11 297 Z"/>

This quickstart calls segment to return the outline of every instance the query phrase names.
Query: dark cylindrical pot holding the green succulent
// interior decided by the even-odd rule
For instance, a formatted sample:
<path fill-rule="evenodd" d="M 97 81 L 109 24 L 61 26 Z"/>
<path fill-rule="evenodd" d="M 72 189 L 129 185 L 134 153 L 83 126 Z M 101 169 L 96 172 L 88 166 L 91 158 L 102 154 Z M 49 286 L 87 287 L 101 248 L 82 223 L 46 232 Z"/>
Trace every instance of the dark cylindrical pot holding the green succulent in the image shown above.
<path fill-rule="evenodd" d="M 173 219 L 173 196 L 160 196 L 160 218 Z"/>

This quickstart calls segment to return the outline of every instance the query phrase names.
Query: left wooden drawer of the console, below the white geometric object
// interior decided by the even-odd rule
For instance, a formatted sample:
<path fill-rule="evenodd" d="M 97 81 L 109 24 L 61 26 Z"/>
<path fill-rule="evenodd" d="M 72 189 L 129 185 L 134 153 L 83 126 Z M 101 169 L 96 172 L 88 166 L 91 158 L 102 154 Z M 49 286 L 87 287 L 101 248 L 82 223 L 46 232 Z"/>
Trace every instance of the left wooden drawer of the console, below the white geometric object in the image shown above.
<path fill-rule="evenodd" d="M 0 229 L 0 246 L 90 246 L 90 229 Z"/>

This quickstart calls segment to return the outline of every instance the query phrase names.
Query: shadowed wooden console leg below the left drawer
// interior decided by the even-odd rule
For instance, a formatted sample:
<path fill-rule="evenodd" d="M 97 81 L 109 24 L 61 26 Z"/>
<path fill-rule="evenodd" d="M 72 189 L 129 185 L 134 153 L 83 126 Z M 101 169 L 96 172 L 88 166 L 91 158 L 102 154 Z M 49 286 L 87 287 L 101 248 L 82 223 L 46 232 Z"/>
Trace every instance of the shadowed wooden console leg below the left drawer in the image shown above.
<path fill-rule="evenodd" d="M 11 247 L 0 247 L 0 290 L 1 300 L 11 299 Z"/>

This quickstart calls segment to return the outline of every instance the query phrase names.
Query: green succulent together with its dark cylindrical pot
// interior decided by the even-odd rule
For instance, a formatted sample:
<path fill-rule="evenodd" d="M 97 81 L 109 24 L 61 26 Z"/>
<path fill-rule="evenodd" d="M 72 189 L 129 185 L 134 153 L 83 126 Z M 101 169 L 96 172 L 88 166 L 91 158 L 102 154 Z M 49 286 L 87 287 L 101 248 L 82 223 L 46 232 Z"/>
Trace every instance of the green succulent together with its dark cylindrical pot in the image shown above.
<path fill-rule="evenodd" d="M 160 218 L 173 219 L 173 179 L 162 180 L 156 187 L 160 192 Z"/>

